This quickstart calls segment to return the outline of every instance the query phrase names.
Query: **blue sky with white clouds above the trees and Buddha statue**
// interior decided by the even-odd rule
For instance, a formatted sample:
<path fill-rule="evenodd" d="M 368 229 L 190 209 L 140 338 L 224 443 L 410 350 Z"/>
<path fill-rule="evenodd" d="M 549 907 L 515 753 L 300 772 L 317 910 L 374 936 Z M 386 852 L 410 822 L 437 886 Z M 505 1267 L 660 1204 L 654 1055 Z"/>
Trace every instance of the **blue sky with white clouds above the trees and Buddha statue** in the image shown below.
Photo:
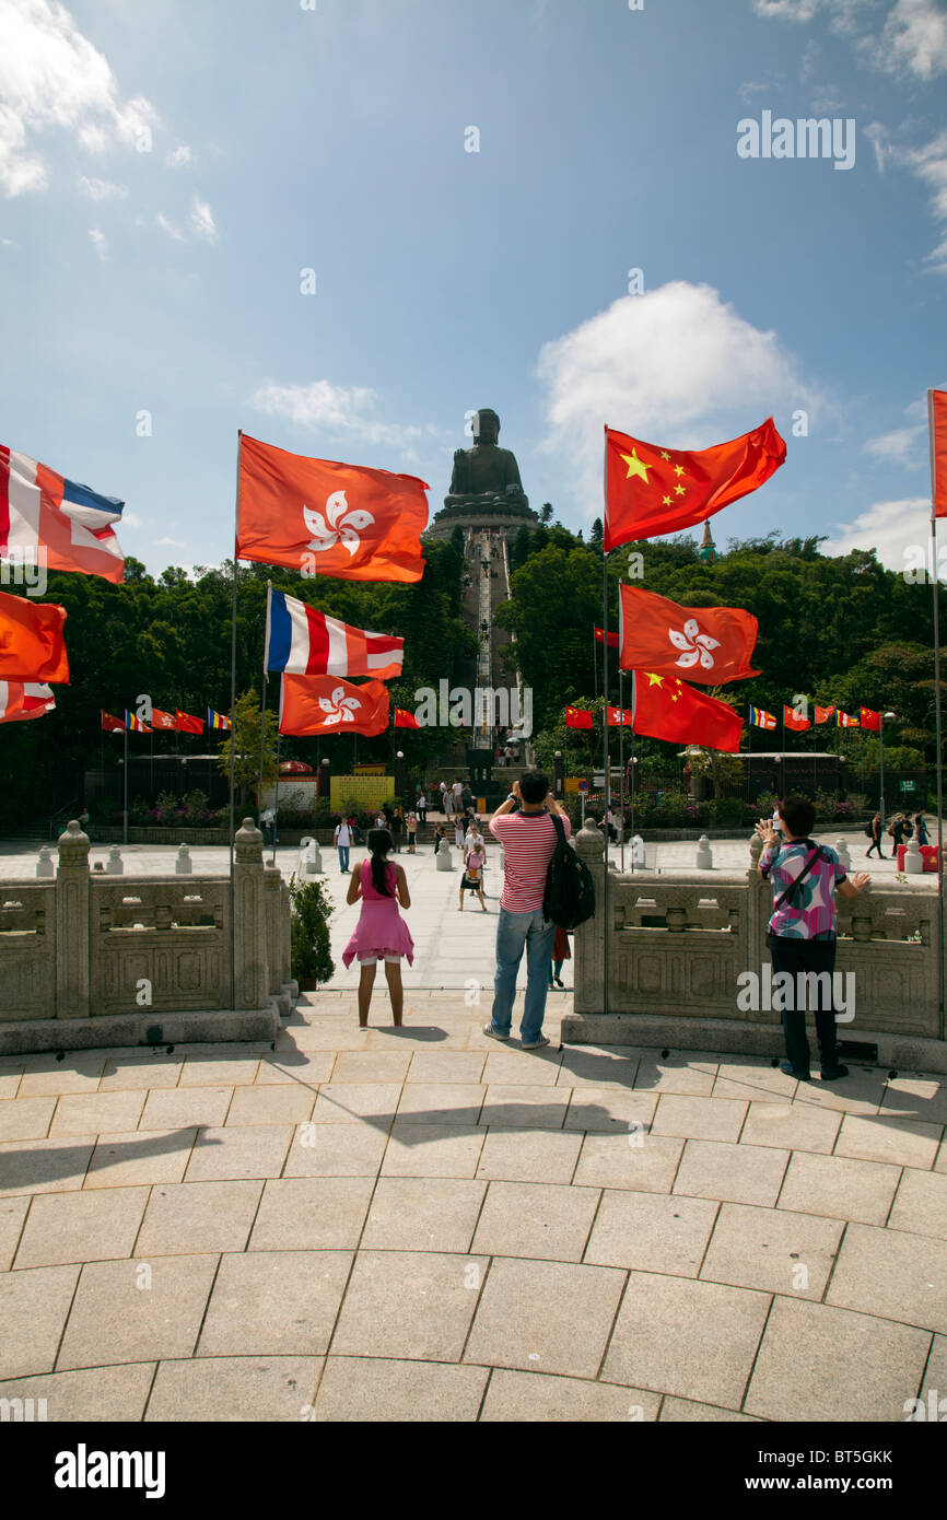
<path fill-rule="evenodd" d="M 603 424 L 772 415 L 786 465 L 717 544 L 903 568 L 945 105 L 944 0 L 3 0 L 0 441 L 122 497 L 158 573 L 233 552 L 239 429 L 433 515 L 489 406 L 587 532 Z"/>

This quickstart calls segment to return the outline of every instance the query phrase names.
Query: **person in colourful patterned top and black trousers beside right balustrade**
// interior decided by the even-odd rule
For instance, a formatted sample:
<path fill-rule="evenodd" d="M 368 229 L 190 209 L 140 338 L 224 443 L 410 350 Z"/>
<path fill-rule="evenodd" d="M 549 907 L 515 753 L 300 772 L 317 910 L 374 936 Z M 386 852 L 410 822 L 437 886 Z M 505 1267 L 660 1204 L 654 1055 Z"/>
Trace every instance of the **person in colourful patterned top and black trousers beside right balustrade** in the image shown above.
<path fill-rule="evenodd" d="M 787 1076 L 810 1081 L 809 1040 L 806 1038 L 806 993 L 815 997 L 815 1028 L 819 1046 L 821 1076 L 835 1082 L 848 1076 L 839 1064 L 835 1002 L 831 996 L 836 952 L 836 891 L 842 897 L 857 897 L 871 877 L 865 872 L 848 877 L 835 850 L 810 838 L 815 806 L 807 796 L 789 796 L 780 804 L 783 839 L 772 821 L 755 825 L 763 841 L 760 876 L 772 882 L 772 914 L 766 926 L 766 941 L 772 970 L 789 973 L 789 986 L 780 982 L 783 1002 L 783 1032 L 787 1059 L 780 1062 Z M 815 973 L 813 980 L 807 973 Z M 821 973 L 827 973 L 822 976 Z"/>

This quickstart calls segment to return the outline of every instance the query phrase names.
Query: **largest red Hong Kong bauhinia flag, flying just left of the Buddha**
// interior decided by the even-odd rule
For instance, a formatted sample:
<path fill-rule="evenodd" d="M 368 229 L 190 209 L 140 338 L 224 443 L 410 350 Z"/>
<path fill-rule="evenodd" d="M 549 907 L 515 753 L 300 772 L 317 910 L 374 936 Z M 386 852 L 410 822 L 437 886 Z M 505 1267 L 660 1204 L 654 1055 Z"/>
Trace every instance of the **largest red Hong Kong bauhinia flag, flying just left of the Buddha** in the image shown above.
<path fill-rule="evenodd" d="M 420 581 L 427 485 L 240 438 L 237 559 L 342 581 Z"/>

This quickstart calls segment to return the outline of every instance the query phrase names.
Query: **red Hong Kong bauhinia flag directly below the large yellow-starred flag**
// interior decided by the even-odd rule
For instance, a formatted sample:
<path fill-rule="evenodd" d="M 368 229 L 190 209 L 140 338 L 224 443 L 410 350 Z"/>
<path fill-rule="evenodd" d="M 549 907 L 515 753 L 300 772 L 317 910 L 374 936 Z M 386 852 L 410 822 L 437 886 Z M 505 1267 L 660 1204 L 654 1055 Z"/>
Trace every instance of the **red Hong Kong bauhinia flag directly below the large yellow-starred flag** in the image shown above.
<path fill-rule="evenodd" d="M 683 675 L 722 686 L 759 675 L 751 669 L 759 623 L 742 606 L 678 606 L 638 585 L 619 587 L 622 670 Z"/>

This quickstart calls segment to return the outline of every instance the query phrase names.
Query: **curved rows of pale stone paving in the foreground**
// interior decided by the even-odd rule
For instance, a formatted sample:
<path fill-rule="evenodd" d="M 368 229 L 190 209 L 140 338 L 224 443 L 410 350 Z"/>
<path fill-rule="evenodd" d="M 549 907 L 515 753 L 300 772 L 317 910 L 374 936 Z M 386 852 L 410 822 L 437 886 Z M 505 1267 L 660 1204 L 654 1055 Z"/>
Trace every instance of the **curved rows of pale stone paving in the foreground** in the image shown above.
<path fill-rule="evenodd" d="M 0 1397 L 49 1420 L 903 1421 L 947 1087 L 524 1052 L 461 996 L 0 1061 Z M 569 999 L 570 1002 L 570 999 Z"/>

